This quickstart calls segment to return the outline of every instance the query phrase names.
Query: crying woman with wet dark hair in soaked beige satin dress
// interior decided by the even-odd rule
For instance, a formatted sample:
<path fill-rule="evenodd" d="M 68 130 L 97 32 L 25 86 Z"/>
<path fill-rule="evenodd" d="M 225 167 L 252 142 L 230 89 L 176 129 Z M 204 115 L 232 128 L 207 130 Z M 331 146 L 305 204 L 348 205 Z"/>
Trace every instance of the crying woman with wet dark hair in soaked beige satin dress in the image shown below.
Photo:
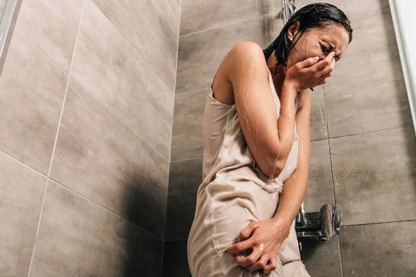
<path fill-rule="evenodd" d="M 264 51 L 241 42 L 227 53 L 205 105 L 193 276 L 309 276 L 294 224 L 309 171 L 308 89 L 327 81 L 351 39 L 345 14 L 315 3 Z"/>

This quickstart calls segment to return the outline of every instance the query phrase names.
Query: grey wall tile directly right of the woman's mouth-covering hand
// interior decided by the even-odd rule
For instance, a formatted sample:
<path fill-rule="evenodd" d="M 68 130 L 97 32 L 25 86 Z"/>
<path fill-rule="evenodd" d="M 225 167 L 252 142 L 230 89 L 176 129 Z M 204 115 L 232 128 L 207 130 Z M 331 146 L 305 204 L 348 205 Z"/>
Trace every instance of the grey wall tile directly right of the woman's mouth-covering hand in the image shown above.
<path fill-rule="evenodd" d="M 337 64 L 324 89 L 330 137 L 410 124 L 396 51 L 348 57 Z"/>

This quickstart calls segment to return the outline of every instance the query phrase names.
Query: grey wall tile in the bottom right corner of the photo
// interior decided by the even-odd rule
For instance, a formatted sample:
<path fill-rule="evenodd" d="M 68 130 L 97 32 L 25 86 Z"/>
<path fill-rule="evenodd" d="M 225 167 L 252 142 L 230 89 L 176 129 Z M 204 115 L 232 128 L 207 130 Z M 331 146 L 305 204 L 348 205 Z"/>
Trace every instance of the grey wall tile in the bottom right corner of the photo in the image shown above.
<path fill-rule="evenodd" d="M 340 233 L 344 277 L 413 277 L 416 222 L 345 226 Z"/>

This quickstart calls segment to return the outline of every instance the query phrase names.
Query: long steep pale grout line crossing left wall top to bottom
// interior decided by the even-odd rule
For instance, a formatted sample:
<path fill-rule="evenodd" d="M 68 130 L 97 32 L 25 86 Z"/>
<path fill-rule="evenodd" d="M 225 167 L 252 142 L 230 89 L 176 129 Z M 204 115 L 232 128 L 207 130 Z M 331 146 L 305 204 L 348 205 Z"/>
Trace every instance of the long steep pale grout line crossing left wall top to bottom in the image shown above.
<path fill-rule="evenodd" d="M 80 26 L 81 26 L 81 21 L 83 21 L 84 8 L 85 8 L 85 0 L 83 1 L 83 10 L 81 10 L 80 22 L 78 24 L 78 30 L 77 30 L 77 35 L 76 35 L 76 39 L 75 39 L 75 45 L 73 46 L 72 57 L 71 57 L 71 65 L 69 66 L 69 74 L 71 73 L 73 56 L 75 54 L 76 44 L 78 42 L 78 35 L 79 35 Z M 65 100 L 67 98 L 67 92 L 68 92 L 68 86 L 69 86 L 69 80 L 70 80 L 69 74 L 68 74 L 68 79 L 67 79 L 67 87 L 65 88 L 64 99 L 62 100 L 62 109 L 61 109 L 60 117 L 59 117 L 59 120 L 58 120 L 58 128 L 56 130 L 55 142 L 53 143 L 53 149 L 52 149 L 52 155 L 51 155 L 51 163 L 49 163 L 49 171 L 48 171 L 48 176 L 47 176 L 48 179 L 46 179 L 46 186 L 45 186 L 44 196 L 43 196 L 43 199 L 42 199 L 42 206 L 40 208 L 39 221 L 37 222 L 37 229 L 36 229 L 36 235 L 35 235 L 35 243 L 33 244 L 33 251 L 32 251 L 32 256 L 31 256 L 31 262 L 29 263 L 28 277 L 31 275 L 31 269 L 32 269 L 32 265 L 33 265 L 33 258 L 35 256 L 36 240 L 37 240 L 37 236 L 39 235 L 40 222 L 42 221 L 42 213 L 43 213 L 45 199 L 46 199 L 46 191 L 48 190 L 49 176 L 51 175 L 51 168 L 52 168 L 52 163 L 53 163 L 53 156 L 55 154 L 56 144 L 58 143 L 58 135 L 59 135 L 60 123 L 61 123 L 61 120 L 62 120 L 62 115 L 64 113 Z"/>

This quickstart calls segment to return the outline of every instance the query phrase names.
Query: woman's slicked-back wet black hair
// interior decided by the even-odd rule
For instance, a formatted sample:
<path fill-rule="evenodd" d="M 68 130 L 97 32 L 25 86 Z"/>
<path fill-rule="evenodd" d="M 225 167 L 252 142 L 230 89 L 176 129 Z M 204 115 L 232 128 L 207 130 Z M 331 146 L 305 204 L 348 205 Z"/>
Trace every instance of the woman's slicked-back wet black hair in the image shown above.
<path fill-rule="evenodd" d="M 300 36 L 297 37 L 295 42 L 291 42 L 288 39 L 288 30 L 292 24 L 299 21 Z M 273 51 L 277 59 L 277 65 L 282 64 L 286 66 L 289 59 L 289 53 L 295 44 L 300 39 L 303 33 L 311 28 L 320 28 L 329 25 L 343 26 L 349 35 L 349 42 L 352 40 L 352 28 L 348 17 L 345 13 L 329 3 L 311 3 L 304 6 L 297 12 L 295 12 L 290 19 L 288 19 L 286 25 L 281 30 L 277 39 L 263 50 L 266 60 L 270 57 Z M 348 42 L 348 43 L 349 43 Z"/>

